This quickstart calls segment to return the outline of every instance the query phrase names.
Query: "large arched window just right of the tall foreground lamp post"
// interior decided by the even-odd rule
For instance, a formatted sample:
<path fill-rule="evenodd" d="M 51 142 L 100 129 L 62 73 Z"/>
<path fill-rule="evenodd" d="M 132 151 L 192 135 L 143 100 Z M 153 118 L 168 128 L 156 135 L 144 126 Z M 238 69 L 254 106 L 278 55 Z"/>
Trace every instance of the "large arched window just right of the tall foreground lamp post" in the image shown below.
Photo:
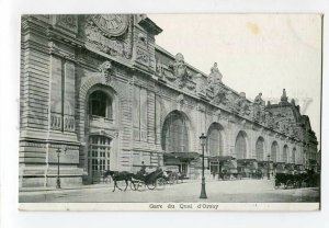
<path fill-rule="evenodd" d="M 223 156 L 223 135 L 218 124 L 212 124 L 207 134 L 207 149 L 211 156 Z"/>

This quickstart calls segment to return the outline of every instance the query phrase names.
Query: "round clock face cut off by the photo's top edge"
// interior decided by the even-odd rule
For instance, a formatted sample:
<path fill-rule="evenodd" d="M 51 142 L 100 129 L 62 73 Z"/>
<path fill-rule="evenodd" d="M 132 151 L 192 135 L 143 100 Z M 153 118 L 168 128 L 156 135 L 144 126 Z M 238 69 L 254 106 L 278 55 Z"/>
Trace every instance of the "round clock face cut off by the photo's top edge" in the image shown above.
<path fill-rule="evenodd" d="M 124 14 L 98 14 L 92 21 L 110 36 L 122 35 L 128 26 L 128 15 Z"/>

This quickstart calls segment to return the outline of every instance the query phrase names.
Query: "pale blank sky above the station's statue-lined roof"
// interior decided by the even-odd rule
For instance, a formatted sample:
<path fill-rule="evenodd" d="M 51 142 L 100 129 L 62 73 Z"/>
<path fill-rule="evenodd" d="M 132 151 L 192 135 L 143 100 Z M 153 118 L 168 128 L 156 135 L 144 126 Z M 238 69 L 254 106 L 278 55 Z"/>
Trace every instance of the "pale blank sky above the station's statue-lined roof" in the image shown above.
<path fill-rule="evenodd" d="M 148 14 L 163 32 L 156 43 L 253 100 L 277 103 L 285 88 L 320 139 L 321 18 L 319 14 Z"/>

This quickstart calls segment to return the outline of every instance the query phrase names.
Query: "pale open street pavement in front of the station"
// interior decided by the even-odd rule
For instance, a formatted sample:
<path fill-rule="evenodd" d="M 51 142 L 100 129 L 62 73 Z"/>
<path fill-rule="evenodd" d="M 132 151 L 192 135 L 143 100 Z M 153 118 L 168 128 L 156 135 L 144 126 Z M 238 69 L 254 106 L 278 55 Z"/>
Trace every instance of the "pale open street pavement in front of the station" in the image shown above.
<path fill-rule="evenodd" d="M 122 184 L 121 184 L 122 186 Z M 112 192 L 109 184 L 80 185 L 63 189 L 21 189 L 20 203 L 298 203 L 319 202 L 319 187 L 274 189 L 274 180 L 206 181 L 207 200 L 200 200 L 201 182 L 166 185 L 163 190 Z"/>

